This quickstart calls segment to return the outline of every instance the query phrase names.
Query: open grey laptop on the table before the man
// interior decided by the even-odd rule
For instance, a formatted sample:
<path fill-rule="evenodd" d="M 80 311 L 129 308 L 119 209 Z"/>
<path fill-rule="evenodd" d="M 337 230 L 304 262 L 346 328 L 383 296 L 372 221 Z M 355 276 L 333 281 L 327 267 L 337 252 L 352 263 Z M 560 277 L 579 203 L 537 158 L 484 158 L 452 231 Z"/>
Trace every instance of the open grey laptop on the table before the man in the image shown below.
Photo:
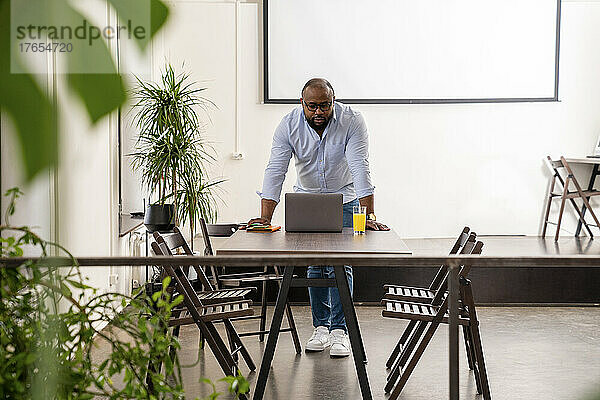
<path fill-rule="evenodd" d="M 286 232 L 341 232 L 344 225 L 341 193 L 286 193 Z"/>

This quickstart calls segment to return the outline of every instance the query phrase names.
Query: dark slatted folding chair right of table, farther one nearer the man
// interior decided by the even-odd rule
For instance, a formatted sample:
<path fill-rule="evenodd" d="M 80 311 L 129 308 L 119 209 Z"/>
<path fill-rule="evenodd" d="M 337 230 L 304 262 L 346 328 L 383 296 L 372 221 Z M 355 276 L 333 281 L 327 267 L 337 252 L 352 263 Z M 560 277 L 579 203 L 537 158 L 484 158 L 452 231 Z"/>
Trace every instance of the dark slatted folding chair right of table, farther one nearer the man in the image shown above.
<path fill-rule="evenodd" d="M 460 251 L 460 249 L 463 248 L 463 246 L 467 242 L 467 239 L 469 238 L 469 231 L 470 231 L 469 227 L 464 227 L 464 229 L 462 230 L 460 235 L 458 235 L 456 242 L 452 246 L 452 249 L 450 250 L 450 254 L 456 254 Z M 475 237 L 472 238 L 472 242 L 475 242 Z M 429 286 L 426 288 L 411 287 L 411 286 L 399 286 L 399 285 L 390 285 L 390 284 L 384 285 L 383 288 L 385 290 L 385 295 L 383 296 L 383 298 L 387 299 L 387 300 L 405 300 L 405 301 L 415 301 L 415 302 L 419 302 L 419 303 L 421 303 L 421 302 L 422 303 L 431 303 L 431 301 L 435 297 L 435 294 L 439 290 L 440 286 L 445 281 L 447 274 L 448 274 L 448 266 L 442 265 L 438 269 L 437 273 L 435 274 L 435 276 L 434 276 L 433 280 L 431 281 L 431 283 L 429 284 Z M 400 340 L 398 340 L 398 343 L 394 347 L 392 354 L 390 354 L 390 356 L 385 364 L 387 368 L 391 368 L 394 365 L 403 346 L 406 344 L 406 341 L 410 337 L 410 334 L 412 333 L 412 331 L 416 325 L 417 325 L 416 321 L 410 321 L 410 323 L 408 324 L 406 329 L 404 329 L 404 332 L 402 333 Z"/>

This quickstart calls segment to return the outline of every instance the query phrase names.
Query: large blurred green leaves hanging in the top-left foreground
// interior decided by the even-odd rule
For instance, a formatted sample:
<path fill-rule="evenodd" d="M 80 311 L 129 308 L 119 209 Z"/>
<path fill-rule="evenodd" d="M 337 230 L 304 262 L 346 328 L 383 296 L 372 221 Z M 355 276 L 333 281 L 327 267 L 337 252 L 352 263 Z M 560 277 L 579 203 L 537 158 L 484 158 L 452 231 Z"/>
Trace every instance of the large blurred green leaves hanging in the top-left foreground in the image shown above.
<path fill-rule="evenodd" d="M 58 160 L 59 121 L 57 105 L 52 95 L 39 85 L 39 76 L 28 73 L 26 63 L 11 43 L 11 1 L 37 2 L 36 7 L 44 8 L 44 15 L 54 25 L 73 26 L 73 21 L 81 21 L 77 8 L 69 0 L 0 0 L 0 108 L 12 120 L 17 133 L 17 142 L 23 159 L 24 175 L 32 179 L 40 171 L 55 166 Z M 107 0 L 119 13 L 120 22 L 135 20 L 145 8 L 150 7 L 149 37 L 136 40 L 140 49 L 148 46 L 164 25 L 169 9 L 161 0 Z M 26 16 L 23 16 L 26 19 Z M 80 49 L 80 57 L 70 60 L 64 74 L 66 87 L 84 106 L 93 123 L 115 111 L 126 99 L 126 88 L 111 53 L 103 40 L 96 40 L 94 46 Z M 11 53 L 12 51 L 12 53 Z M 25 73 L 11 72 L 11 59 Z M 81 73 L 86 68 L 81 65 L 101 64 L 105 73 Z M 14 71 L 13 71 L 14 72 Z"/>

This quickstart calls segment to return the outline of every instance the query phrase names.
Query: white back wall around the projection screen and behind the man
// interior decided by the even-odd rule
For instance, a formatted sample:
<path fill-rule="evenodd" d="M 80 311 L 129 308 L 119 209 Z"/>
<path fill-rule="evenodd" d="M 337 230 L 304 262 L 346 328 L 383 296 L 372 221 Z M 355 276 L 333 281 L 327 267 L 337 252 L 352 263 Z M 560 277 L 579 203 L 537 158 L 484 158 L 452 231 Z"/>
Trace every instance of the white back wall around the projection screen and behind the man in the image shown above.
<path fill-rule="evenodd" d="M 293 107 L 261 104 L 259 5 L 240 4 L 241 161 L 231 159 L 235 2 L 171 6 L 168 27 L 155 43 L 154 70 L 164 57 L 175 65 L 185 62 L 192 77 L 209 88 L 206 95 L 219 107 L 209 128 L 220 156 L 216 173 L 229 179 L 219 219 L 245 221 L 259 212 L 255 191 L 262 185 L 273 130 Z M 598 21 L 599 1 L 563 1 L 558 103 L 354 106 L 370 131 L 378 218 L 404 237 L 453 236 L 465 224 L 480 234 L 538 234 L 548 179 L 542 159 L 591 153 L 600 134 Z M 581 172 L 587 184 L 587 170 Z M 284 191 L 294 181 L 291 165 Z M 572 213 L 567 217 L 565 233 L 573 232 Z M 275 221 L 283 222 L 282 205 Z"/>

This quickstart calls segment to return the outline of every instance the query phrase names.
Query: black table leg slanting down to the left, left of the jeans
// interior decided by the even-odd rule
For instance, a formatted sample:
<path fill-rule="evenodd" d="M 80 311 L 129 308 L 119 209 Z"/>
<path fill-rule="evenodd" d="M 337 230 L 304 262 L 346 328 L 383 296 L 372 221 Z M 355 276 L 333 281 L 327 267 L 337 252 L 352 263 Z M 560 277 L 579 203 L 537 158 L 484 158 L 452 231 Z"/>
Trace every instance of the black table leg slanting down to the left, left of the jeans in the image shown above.
<path fill-rule="evenodd" d="M 277 346 L 277 339 L 279 338 L 279 329 L 281 329 L 281 322 L 283 321 L 283 314 L 285 312 L 285 305 L 290 292 L 293 275 L 294 267 L 285 267 L 283 280 L 277 295 L 277 303 L 275 303 L 273 319 L 271 320 L 271 327 L 269 328 L 267 346 L 265 347 L 265 353 L 260 364 L 260 372 L 258 373 L 258 379 L 256 380 L 256 388 L 254 389 L 254 396 L 252 397 L 253 400 L 262 400 L 265 394 L 267 378 L 269 377 L 269 370 L 271 369 L 271 363 L 273 362 L 273 356 L 275 355 L 275 347 Z M 346 285 L 346 287 L 348 287 L 348 285 Z"/>

